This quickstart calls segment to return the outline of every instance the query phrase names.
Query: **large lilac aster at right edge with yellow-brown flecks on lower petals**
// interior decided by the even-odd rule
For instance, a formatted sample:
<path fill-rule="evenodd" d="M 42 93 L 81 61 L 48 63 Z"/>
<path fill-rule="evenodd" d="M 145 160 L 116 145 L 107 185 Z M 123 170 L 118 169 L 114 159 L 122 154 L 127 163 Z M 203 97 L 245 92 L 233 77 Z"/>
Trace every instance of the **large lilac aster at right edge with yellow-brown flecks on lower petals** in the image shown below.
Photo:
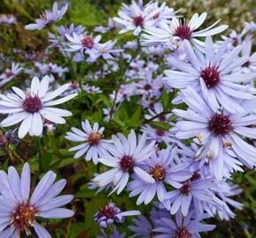
<path fill-rule="evenodd" d="M 233 156 L 247 167 L 256 165 L 256 149 L 243 139 L 256 138 L 255 129 L 250 126 L 256 123 L 256 116 L 250 115 L 251 110 L 246 104 L 244 108 L 248 108 L 249 113 L 231 114 L 207 106 L 191 87 L 182 91 L 182 97 L 189 109 L 173 110 L 176 115 L 185 119 L 177 122 L 176 137 L 181 139 L 197 137 L 200 140 L 203 146 L 194 160 L 201 160 L 207 156 L 214 163 L 213 170 L 218 179 L 222 179 L 224 151 L 230 150 Z"/>

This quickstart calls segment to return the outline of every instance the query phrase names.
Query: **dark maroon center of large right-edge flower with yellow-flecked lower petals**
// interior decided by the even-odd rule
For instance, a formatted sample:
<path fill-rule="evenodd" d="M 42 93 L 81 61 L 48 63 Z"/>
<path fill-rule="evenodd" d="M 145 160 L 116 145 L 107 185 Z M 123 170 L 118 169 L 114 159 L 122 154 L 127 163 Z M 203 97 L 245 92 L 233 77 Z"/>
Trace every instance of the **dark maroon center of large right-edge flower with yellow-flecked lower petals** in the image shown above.
<path fill-rule="evenodd" d="M 233 130 L 229 116 L 222 114 L 215 114 L 208 123 L 208 128 L 215 135 L 221 136 L 229 134 L 230 131 Z"/>

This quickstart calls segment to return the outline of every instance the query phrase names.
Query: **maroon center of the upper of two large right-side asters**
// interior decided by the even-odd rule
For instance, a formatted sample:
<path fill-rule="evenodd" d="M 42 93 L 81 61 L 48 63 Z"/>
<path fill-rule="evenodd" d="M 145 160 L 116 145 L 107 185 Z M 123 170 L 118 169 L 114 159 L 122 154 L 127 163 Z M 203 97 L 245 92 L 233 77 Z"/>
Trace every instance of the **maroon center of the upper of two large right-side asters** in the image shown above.
<path fill-rule="evenodd" d="M 207 88 L 215 87 L 220 83 L 220 73 L 215 66 L 208 66 L 201 71 L 200 77 L 204 79 Z"/>

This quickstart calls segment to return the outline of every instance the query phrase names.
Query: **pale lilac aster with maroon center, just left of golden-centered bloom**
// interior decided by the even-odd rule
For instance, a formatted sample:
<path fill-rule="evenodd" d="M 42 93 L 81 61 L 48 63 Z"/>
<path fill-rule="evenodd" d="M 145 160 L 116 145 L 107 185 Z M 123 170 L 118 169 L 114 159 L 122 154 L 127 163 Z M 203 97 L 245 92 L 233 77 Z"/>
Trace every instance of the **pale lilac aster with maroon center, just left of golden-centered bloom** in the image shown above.
<path fill-rule="evenodd" d="M 109 155 L 100 158 L 99 161 L 111 168 L 109 171 L 94 178 L 100 187 L 113 182 L 115 187 L 112 192 L 117 190 L 119 194 L 129 180 L 130 172 L 134 172 L 146 182 L 154 182 L 151 175 L 141 169 L 139 165 L 147 160 L 154 152 L 154 141 L 147 145 L 147 136 L 143 134 L 137 140 L 134 130 L 131 130 L 128 139 L 121 133 L 118 137 L 112 136 L 114 145 L 109 146 Z M 111 192 L 111 193 L 112 193 Z"/>

